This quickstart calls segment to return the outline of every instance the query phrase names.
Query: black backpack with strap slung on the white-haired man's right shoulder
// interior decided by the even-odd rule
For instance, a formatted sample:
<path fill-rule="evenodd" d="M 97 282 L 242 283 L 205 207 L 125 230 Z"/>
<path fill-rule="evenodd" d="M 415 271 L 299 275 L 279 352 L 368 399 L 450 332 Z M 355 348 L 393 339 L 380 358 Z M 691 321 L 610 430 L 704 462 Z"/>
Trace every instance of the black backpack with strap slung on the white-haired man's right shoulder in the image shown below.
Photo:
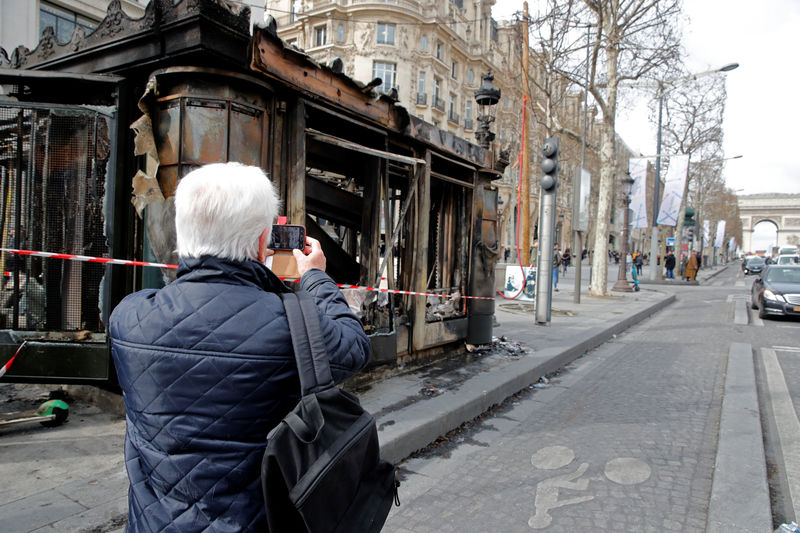
<path fill-rule="evenodd" d="M 336 387 L 317 307 L 280 295 L 302 398 L 267 436 L 261 485 L 272 533 L 377 533 L 397 500 L 395 467 L 380 458 L 375 419 Z"/>

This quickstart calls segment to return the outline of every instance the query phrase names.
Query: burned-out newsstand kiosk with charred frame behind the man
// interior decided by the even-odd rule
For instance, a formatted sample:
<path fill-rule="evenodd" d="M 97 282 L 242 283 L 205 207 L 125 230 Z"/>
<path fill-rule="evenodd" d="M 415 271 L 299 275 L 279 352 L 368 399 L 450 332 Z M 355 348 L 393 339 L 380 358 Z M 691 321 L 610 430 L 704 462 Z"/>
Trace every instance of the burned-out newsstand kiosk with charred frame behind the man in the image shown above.
<path fill-rule="evenodd" d="M 322 242 L 374 363 L 491 340 L 502 166 L 274 22 L 251 35 L 224 0 L 153 0 L 140 19 L 112 2 L 93 33 L 46 30 L 0 67 L 2 248 L 22 251 L 2 254 L 0 365 L 27 341 L 4 379 L 113 380 L 108 315 L 174 278 L 175 187 L 224 161 L 265 169 Z"/>

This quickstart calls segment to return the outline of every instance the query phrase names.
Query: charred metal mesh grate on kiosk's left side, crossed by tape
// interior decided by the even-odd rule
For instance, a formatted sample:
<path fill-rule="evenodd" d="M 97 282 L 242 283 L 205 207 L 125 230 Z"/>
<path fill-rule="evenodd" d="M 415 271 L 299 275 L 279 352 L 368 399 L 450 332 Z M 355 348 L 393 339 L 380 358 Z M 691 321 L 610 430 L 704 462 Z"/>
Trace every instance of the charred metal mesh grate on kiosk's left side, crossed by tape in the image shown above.
<path fill-rule="evenodd" d="M 4 248 L 107 256 L 109 120 L 85 108 L 0 106 Z M 0 327 L 102 331 L 104 266 L 2 254 Z"/>

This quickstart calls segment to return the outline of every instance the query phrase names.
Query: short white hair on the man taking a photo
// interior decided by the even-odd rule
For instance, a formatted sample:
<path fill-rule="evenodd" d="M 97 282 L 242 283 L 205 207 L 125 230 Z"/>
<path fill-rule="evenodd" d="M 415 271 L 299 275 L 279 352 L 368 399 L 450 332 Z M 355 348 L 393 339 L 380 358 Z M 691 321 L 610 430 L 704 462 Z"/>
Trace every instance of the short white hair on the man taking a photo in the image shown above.
<path fill-rule="evenodd" d="M 214 163 L 191 171 L 175 191 L 178 255 L 236 261 L 258 258 L 280 200 L 267 175 L 241 163 Z"/>

